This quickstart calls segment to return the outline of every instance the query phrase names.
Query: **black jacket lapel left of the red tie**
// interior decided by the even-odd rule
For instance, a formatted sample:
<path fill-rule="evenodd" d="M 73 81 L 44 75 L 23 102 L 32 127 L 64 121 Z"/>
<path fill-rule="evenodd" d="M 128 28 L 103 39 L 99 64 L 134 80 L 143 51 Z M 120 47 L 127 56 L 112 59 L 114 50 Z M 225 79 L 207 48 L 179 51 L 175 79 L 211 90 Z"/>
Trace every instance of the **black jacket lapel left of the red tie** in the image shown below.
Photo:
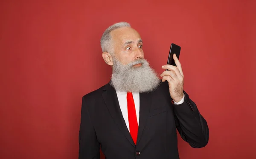
<path fill-rule="evenodd" d="M 116 95 L 116 91 L 110 84 L 105 85 L 105 92 L 102 93 L 102 98 L 105 101 L 106 106 L 108 107 L 108 111 L 111 114 L 114 122 L 121 132 L 125 135 L 126 139 L 135 147 L 134 141 L 131 138 L 131 134 L 127 129 L 125 124 L 125 120 L 122 116 L 122 112 L 119 106 L 118 98 Z"/>

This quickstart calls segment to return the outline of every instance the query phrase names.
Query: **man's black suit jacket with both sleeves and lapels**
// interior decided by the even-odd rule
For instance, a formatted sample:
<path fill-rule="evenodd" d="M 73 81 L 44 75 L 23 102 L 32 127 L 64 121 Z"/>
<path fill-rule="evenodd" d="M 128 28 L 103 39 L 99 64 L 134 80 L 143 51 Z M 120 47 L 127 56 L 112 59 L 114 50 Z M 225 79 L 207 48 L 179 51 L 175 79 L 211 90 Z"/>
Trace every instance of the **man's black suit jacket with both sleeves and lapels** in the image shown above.
<path fill-rule="evenodd" d="M 168 82 L 140 93 L 137 145 L 123 119 L 116 91 L 108 83 L 82 98 L 79 159 L 179 159 L 177 131 L 191 147 L 208 143 L 207 121 L 185 93 L 183 104 L 172 104 Z"/>

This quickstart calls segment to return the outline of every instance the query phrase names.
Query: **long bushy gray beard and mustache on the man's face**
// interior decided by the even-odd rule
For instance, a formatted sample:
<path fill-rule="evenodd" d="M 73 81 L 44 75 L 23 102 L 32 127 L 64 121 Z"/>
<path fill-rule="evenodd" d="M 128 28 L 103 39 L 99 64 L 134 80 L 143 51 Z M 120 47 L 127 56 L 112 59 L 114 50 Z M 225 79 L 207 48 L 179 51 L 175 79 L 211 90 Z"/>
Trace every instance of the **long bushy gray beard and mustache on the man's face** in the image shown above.
<path fill-rule="evenodd" d="M 133 67 L 135 64 L 140 67 Z M 155 90 L 160 83 L 157 73 L 145 59 L 137 59 L 127 65 L 113 57 L 111 85 L 118 91 L 147 93 Z"/>

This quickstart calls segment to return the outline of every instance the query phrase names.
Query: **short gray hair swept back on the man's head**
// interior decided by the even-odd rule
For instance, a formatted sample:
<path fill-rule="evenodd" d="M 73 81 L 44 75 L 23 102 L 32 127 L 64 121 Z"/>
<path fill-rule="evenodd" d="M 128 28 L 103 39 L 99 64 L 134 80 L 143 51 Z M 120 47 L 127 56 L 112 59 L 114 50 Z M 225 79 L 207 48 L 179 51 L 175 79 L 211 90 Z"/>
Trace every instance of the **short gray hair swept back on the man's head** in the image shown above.
<path fill-rule="evenodd" d="M 115 23 L 112 26 L 109 26 L 108 29 L 105 30 L 105 32 L 102 35 L 102 38 L 100 39 L 100 46 L 102 48 L 102 52 L 111 52 L 111 35 L 110 33 L 115 30 L 122 27 L 131 27 L 131 25 L 127 22 L 120 22 Z"/>

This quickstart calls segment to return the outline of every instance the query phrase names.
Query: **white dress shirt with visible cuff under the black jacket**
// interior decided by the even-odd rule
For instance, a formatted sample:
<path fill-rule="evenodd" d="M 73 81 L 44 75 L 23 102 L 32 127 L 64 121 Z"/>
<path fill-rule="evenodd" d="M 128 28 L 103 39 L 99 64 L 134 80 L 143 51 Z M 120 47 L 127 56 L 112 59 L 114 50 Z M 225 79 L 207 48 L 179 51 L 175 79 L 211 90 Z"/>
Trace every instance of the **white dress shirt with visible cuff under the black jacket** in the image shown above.
<path fill-rule="evenodd" d="M 127 109 L 127 92 L 121 92 L 121 91 L 116 91 L 117 98 L 119 101 L 119 106 L 122 112 L 122 116 L 125 119 L 125 124 L 130 131 L 129 128 L 129 121 L 128 121 L 128 109 Z M 140 118 L 140 93 L 132 93 L 133 98 L 134 98 L 134 104 L 135 104 L 135 110 L 136 110 L 136 116 L 137 116 L 137 122 L 139 125 L 139 118 Z M 185 95 L 183 94 L 183 98 L 179 102 L 174 102 L 174 104 L 182 104 L 184 102 L 184 97 Z"/>

